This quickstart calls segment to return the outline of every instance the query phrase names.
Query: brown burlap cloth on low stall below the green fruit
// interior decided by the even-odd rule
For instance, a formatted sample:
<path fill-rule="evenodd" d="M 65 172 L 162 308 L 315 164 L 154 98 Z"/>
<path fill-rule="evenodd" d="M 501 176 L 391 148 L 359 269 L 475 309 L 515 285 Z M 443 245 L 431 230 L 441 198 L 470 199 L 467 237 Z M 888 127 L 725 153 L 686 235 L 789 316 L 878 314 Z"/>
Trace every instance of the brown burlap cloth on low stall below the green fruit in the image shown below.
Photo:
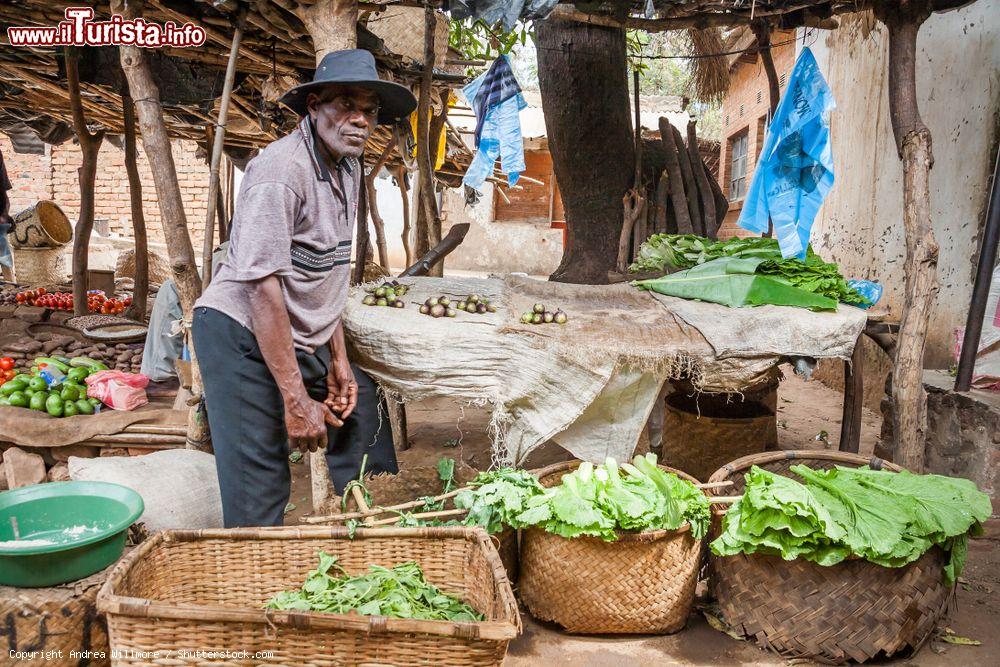
<path fill-rule="evenodd" d="M 44 412 L 0 406 L 0 442 L 25 447 L 63 447 L 102 435 L 121 433 L 132 424 L 183 426 L 186 410 L 144 405 L 128 412 L 104 409 L 96 415 L 55 418 Z"/>

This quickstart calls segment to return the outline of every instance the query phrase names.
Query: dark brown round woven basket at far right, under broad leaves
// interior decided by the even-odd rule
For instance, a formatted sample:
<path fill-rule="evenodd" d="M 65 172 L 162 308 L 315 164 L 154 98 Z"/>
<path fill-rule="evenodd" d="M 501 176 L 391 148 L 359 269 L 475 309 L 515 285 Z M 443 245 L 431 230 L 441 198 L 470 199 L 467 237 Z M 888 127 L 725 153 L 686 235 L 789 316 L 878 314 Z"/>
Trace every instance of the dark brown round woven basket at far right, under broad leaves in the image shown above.
<path fill-rule="evenodd" d="M 878 458 L 842 452 L 769 452 L 737 459 L 710 481 L 731 480 L 732 493 L 739 494 L 751 466 L 790 475 L 789 468 L 799 463 L 900 470 Z M 718 527 L 713 521 L 713 532 Z M 723 620 L 762 647 L 787 657 L 864 662 L 916 650 L 930 637 L 952 592 L 942 581 L 945 559 L 937 547 L 901 568 L 862 559 L 824 567 L 758 554 L 712 556 L 710 588 Z"/>

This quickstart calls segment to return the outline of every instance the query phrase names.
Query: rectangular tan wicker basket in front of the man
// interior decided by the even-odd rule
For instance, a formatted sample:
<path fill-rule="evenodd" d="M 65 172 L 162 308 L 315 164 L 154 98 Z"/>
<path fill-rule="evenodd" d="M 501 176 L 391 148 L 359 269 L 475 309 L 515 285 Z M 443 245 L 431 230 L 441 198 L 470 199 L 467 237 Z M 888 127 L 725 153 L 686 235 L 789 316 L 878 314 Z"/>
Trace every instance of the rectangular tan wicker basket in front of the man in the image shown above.
<path fill-rule="evenodd" d="M 416 561 L 482 622 L 264 610 L 298 588 L 323 550 L 351 574 Z M 500 665 L 520 618 L 496 549 L 480 528 L 240 528 L 157 533 L 98 596 L 115 665 Z M 186 650 L 190 652 L 180 653 Z M 151 652 L 170 662 L 155 662 Z M 167 652 L 170 652 L 169 654 Z M 255 653 L 264 653 L 262 657 Z"/>

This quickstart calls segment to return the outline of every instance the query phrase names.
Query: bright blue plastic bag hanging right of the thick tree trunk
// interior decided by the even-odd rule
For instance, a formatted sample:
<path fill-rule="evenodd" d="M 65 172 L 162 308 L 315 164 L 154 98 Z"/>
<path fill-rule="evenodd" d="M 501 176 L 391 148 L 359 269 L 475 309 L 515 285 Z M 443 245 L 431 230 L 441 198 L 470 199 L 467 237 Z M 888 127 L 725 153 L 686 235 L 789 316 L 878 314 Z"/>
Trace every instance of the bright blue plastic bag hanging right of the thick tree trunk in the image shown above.
<path fill-rule="evenodd" d="M 833 187 L 834 106 L 812 51 L 803 49 L 768 127 L 737 223 L 762 234 L 770 218 L 782 257 L 805 259 L 816 213 Z"/>

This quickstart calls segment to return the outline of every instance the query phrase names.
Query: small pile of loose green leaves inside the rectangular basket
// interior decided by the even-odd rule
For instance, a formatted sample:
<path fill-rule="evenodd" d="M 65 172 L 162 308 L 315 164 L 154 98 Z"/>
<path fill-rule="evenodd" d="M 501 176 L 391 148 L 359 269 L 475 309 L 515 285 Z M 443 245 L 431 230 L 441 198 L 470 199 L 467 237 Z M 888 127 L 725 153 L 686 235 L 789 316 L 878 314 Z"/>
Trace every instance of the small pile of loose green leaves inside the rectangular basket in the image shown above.
<path fill-rule="evenodd" d="M 330 571 L 340 576 L 331 574 Z M 282 591 L 266 605 L 283 611 L 357 612 L 366 616 L 395 616 L 436 621 L 481 621 L 482 614 L 461 600 L 427 583 L 414 562 L 392 568 L 370 565 L 367 573 L 351 577 L 337 557 L 319 552 L 319 566 L 310 570 L 300 590 Z"/>

